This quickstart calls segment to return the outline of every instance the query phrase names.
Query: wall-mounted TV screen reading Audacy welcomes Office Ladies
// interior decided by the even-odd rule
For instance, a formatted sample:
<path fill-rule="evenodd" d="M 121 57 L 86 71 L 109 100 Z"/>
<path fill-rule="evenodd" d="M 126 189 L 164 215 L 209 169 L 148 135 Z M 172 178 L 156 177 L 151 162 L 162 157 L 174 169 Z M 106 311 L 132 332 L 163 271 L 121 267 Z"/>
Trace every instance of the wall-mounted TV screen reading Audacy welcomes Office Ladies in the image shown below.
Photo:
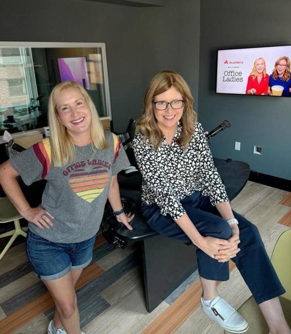
<path fill-rule="evenodd" d="M 218 50 L 216 93 L 291 97 L 291 46 Z"/>

